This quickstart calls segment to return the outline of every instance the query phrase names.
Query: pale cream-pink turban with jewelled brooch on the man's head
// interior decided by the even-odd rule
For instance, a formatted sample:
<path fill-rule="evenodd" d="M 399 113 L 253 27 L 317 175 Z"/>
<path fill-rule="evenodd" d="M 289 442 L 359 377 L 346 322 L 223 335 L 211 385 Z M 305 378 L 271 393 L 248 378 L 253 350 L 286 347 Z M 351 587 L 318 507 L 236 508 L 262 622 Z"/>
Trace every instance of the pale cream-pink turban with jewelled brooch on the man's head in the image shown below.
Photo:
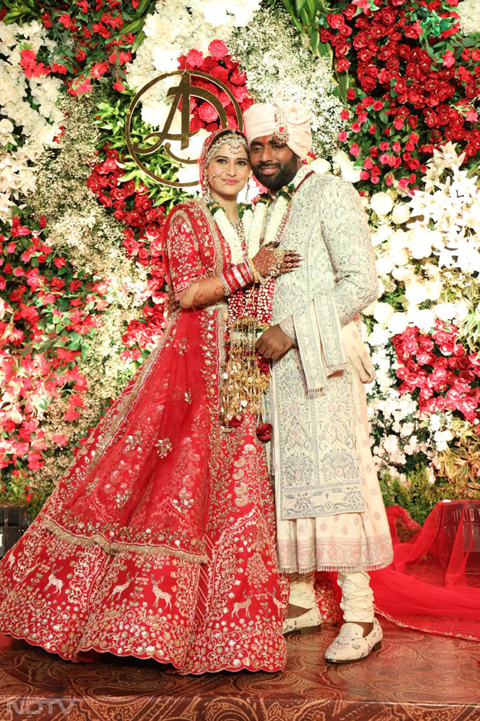
<path fill-rule="evenodd" d="M 310 149 L 310 115 L 303 105 L 257 102 L 245 110 L 243 120 L 248 145 L 255 138 L 273 135 L 277 142 L 288 145 L 302 160 Z"/>

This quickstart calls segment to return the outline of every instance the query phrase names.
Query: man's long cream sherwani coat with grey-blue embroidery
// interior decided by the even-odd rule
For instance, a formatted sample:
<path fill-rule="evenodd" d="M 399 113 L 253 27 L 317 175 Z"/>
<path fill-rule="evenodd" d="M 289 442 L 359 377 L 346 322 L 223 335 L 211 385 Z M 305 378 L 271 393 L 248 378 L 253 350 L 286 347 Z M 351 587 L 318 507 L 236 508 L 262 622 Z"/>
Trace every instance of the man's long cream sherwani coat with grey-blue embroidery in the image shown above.
<path fill-rule="evenodd" d="M 280 567 L 380 568 L 391 562 L 391 539 L 350 361 L 365 352 L 353 321 L 377 295 L 368 224 L 350 183 L 307 166 L 300 182 L 281 247 L 306 260 L 277 279 L 272 317 L 290 324 L 298 348 L 273 363 L 267 400 Z"/>

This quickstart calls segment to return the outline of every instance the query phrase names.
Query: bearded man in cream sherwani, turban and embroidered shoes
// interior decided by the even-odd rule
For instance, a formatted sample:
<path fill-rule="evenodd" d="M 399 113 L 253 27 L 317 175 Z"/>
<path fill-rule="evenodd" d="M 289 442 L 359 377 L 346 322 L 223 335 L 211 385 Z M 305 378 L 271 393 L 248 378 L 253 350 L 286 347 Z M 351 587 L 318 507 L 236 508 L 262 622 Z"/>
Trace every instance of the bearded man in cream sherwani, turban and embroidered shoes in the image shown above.
<path fill-rule="evenodd" d="M 273 360 L 279 563 L 291 574 L 284 632 L 320 626 L 314 571 L 336 570 L 345 623 L 325 658 L 348 663 L 380 645 L 368 570 L 392 557 L 361 384 L 371 365 L 356 324 L 377 296 L 375 260 L 356 190 L 304 164 L 311 136 L 303 107 L 253 105 L 245 133 L 253 173 L 272 200 L 264 237 L 272 240 L 272 221 L 279 247 L 306 259 L 276 279 L 271 327 L 257 342 Z M 288 203 L 279 193 L 285 186 Z"/>

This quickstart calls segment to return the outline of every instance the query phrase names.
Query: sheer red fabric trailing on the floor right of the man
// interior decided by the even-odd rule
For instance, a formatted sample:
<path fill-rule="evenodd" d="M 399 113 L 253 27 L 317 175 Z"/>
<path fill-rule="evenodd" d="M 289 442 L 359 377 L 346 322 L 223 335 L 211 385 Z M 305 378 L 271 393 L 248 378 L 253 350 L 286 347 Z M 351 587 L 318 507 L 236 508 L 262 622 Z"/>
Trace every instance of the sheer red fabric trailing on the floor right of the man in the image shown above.
<path fill-rule="evenodd" d="M 412 629 L 480 640 L 480 500 L 442 501 L 419 530 L 403 508 L 387 514 L 394 562 L 371 572 L 376 610 Z"/>

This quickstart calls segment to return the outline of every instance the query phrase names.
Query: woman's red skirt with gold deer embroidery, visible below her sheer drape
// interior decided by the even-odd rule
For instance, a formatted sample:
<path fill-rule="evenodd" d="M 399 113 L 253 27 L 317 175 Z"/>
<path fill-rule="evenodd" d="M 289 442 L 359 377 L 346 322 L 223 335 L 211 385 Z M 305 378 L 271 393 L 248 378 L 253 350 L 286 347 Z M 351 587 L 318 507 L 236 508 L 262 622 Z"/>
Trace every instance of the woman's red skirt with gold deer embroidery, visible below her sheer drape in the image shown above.
<path fill-rule="evenodd" d="M 181 673 L 281 671 L 288 582 L 271 480 L 251 419 L 225 433 L 207 563 L 82 547 L 35 521 L 0 565 L 0 631 L 62 658 L 94 650 Z"/>

